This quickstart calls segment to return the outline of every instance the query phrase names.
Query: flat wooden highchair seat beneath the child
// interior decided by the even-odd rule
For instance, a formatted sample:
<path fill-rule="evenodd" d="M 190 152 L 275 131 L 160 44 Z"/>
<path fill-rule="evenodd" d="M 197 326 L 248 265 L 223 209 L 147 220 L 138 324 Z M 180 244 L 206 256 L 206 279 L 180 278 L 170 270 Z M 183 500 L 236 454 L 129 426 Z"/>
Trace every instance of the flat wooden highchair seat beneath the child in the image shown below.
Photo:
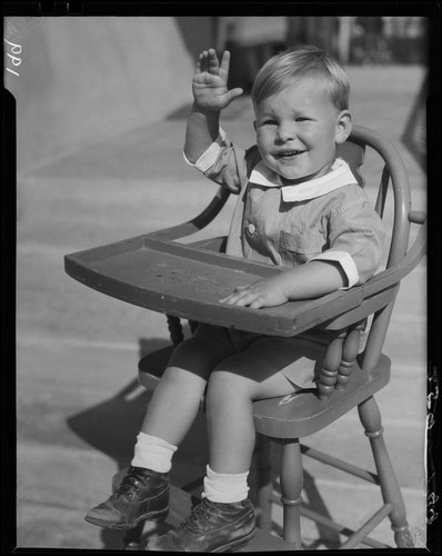
<path fill-rule="evenodd" d="M 168 346 L 143 357 L 139 363 L 139 383 L 153 390 L 163 374 L 173 346 Z M 272 438 L 302 438 L 330 425 L 356 407 L 390 380 L 391 360 L 381 355 L 373 371 L 366 373 L 354 364 L 344 390 L 334 390 L 321 400 L 317 390 L 254 401 L 253 414 L 257 431 Z"/>

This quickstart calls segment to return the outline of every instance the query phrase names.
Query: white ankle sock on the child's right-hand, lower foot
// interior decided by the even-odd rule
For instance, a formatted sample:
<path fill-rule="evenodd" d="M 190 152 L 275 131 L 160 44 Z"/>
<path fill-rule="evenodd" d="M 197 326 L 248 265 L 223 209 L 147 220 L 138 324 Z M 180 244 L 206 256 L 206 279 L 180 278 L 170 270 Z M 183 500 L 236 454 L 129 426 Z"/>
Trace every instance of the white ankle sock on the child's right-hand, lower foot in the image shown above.
<path fill-rule="evenodd" d="M 234 503 L 245 500 L 248 497 L 245 473 L 215 473 L 209 466 L 205 467 L 203 498 L 210 502 Z"/>

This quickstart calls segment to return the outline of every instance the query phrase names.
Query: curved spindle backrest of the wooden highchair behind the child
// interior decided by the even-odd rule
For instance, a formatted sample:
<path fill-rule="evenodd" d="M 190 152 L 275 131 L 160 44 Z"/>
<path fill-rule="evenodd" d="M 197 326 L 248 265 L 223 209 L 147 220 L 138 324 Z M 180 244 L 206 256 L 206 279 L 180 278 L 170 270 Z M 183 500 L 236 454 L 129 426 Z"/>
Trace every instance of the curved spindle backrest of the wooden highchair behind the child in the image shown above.
<path fill-rule="evenodd" d="M 383 162 L 375 201 L 375 210 L 381 218 L 384 216 L 386 193 L 391 183 L 393 224 L 390 246 L 385 269 L 362 286 L 364 290 L 363 301 L 358 307 L 343 311 L 341 315 L 338 309 L 335 318 L 320 325 L 320 328 L 334 330 L 336 334 L 335 340 L 329 345 L 318 383 L 319 396 L 322 399 L 327 399 L 334 388 L 344 389 L 346 387 L 352 360 L 358 354 L 360 331 L 365 328 L 370 316 L 373 318 L 368 331 L 365 349 L 359 356 L 359 360 L 361 368 L 365 371 L 370 373 L 375 368 L 381 357 L 400 280 L 414 268 L 425 249 L 425 227 L 422 226 L 418 239 L 408 251 L 410 226 L 412 222 L 423 225 L 425 214 L 411 211 L 408 175 L 394 147 L 380 135 L 365 128 L 355 127 L 349 141 L 343 143 L 339 155 L 349 162 L 353 172 L 358 172 L 358 180 L 363 187 L 364 181 L 359 169 L 363 163 L 366 147 L 373 149 Z"/>

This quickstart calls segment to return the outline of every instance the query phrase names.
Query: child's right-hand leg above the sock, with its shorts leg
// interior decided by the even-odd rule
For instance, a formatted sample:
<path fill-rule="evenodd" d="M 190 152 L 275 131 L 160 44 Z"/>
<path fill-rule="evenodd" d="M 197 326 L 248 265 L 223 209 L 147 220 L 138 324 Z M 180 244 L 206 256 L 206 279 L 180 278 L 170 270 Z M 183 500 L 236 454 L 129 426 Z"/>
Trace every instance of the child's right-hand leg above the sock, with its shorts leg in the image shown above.
<path fill-rule="evenodd" d="M 323 353 L 324 346 L 304 339 L 261 338 L 217 366 L 207 395 L 213 471 L 249 469 L 255 440 L 252 403 L 299 391 L 281 370 L 290 367 L 300 384 L 307 385 Z"/>

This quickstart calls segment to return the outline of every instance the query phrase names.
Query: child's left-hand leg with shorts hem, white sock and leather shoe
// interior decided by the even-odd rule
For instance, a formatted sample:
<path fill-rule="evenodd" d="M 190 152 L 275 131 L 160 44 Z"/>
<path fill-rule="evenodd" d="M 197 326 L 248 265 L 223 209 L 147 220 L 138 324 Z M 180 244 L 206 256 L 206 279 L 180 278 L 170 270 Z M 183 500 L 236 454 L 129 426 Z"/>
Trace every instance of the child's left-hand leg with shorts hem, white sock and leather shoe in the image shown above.
<path fill-rule="evenodd" d="M 110 498 L 88 512 L 87 522 L 128 529 L 165 517 L 172 456 L 193 423 L 212 368 L 225 357 L 225 345 L 210 344 L 192 338 L 177 348 L 148 407 L 125 476 Z"/>

